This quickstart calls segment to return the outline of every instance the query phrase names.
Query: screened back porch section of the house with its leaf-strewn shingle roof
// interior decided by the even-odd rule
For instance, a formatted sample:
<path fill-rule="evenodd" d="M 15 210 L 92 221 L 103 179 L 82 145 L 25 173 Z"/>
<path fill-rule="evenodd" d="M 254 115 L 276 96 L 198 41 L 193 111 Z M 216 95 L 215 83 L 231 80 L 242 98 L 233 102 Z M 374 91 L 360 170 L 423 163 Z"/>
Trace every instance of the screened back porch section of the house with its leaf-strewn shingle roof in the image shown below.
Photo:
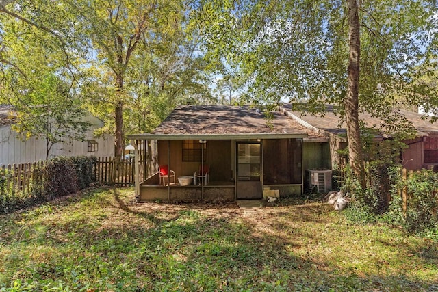
<path fill-rule="evenodd" d="M 328 139 L 280 111 L 271 114 L 267 120 L 251 107 L 186 105 L 152 133 L 129 135 L 133 146 L 144 143 L 154 149 L 149 157 L 156 157 L 149 177 L 140 181 L 136 170 L 138 201 L 259 199 L 267 188 L 280 196 L 302 194 L 305 170 L 313 167 L 309 161 L 321 156 L 303 141 Z M 205 179 L 196 177 L 206 169 Z"/>

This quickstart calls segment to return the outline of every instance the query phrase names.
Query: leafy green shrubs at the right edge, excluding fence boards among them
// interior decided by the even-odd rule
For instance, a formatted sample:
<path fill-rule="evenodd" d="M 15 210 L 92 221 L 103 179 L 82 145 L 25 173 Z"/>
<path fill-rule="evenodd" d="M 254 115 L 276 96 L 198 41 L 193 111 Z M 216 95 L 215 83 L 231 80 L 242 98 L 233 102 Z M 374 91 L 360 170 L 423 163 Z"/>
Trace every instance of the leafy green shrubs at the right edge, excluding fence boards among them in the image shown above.
<path fill-rule="evenodd" d="M 396 224 L 410 233 L 419 233 L 438 240 L 438 174 L 431 170 L 422 170 L 402 180 L 400 168 L 382 171 L 381 165 L 378 166 L 379 168 L 369 171 L 367 189 L 362 189 L 350 171 L 346 174 L 343 189 L 350 191 L 355 198 L 345 211 L 346 217 L 353 222 L 378 220 Z M 384 178 L 383 183 L 381 178 Z M 378 185 L 379 179 L 382 185 Z M 402 213 L 403 203 L 400 196 L 403 188 L 406 188 L 408 194 L 406 215 Z M 388 192 L 391 194 L 391 202 L 383 209 L 382 201 Z"/>

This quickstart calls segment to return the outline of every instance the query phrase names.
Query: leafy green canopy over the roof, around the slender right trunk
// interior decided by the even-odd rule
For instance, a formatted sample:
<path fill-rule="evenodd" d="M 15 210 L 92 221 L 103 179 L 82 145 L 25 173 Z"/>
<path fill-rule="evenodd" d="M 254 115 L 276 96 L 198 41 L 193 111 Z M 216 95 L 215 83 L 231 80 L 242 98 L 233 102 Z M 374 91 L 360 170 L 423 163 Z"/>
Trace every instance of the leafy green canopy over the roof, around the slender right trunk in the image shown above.
<path fill-rule="evenodd" d="M 376 116 L 394 116 L 400 103 L 438 107 L 438 12 L 434 1 L 359 1 L 359 103 Z M 211 58 L 239 68 L 253 101 L 325 103 L 344 114 L 347 85 L 346 1 L 203 1 Z M 397 104 L 395 96 L 403 96 Z"/>

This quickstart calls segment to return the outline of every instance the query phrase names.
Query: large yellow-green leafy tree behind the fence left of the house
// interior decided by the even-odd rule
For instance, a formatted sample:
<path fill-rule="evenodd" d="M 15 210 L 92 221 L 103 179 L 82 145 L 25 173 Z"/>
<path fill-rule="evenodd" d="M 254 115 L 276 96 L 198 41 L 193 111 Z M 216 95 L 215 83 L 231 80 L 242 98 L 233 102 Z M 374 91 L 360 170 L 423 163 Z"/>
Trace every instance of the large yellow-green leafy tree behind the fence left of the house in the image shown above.
<path fill-rule="evenodd" d="M 1 1 L 3 90 L 52 72 L 105 121 L 101 133 L 116 137 L 119 154 L 125 132 L 150 131 L 176 105 L 211 100 L 190 10 L 168 0 Z"/>

